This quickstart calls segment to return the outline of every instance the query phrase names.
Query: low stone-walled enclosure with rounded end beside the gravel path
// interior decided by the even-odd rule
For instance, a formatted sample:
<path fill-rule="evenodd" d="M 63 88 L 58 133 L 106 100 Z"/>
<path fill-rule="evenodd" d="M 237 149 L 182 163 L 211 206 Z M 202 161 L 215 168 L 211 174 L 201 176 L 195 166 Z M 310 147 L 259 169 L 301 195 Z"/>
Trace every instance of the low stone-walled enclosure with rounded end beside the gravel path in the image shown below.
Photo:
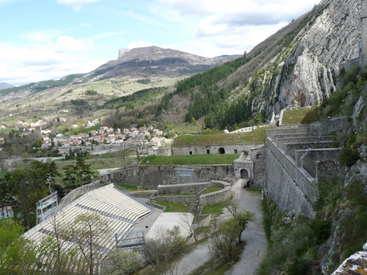
<path fill-rule="evenodd" d="M 223 187 L 222 190 L 202 195 L 208 187 Z M 220 180 L 212 180 L 210 182 L 202 182 L 196 184 L 180 184 L 180 185 L 159 185 L 157 200 L 171 202 L 189 202 L 198 201 L 200 206 L 213 205 L 227 201 L 231 198 L 231 185 L 228 182 Z M 163 194 L 191 194 L 198 193 L 196 196 L 161 196 Z M 187 197 L 187 198 L 185 198 Z"/>

